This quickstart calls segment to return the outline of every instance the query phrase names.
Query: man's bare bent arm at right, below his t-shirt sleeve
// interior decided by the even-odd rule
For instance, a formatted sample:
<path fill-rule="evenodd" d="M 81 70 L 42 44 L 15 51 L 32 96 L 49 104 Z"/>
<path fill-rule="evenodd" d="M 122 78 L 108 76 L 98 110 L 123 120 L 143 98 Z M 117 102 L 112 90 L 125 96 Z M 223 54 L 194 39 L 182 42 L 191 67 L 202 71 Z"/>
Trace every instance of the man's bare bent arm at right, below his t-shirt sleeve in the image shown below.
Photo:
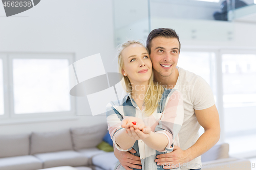
<path fill-rule="evenodd" d="M 167 154 L 158 155 L 157 164 L 182 164 L 189 162 L 202 155 L 213 147 L 220 138 L 220 120 L 216 106 L 211 106 L 203 110 L 195 110 L 199 124 L 204 128 L 204 133 L 197 142 L 185 151 L 175 146 L 174 151 Z M 167 167 L 166 167 L 167 168 Z"/>

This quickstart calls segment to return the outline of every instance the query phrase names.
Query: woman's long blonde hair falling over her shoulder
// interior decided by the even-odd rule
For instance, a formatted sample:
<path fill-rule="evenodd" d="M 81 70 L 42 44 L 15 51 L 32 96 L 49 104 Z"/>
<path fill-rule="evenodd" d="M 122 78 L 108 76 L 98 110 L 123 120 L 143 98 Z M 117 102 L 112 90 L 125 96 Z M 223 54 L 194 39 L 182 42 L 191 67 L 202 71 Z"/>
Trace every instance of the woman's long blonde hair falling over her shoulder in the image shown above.
<path fill-rule="evenodd" d="M 127 42 L 121 44 L 120 47 L 118 48 L 117 57 L 118 57 L 118 67 L 119 67 L 120 74 L 122 74 L 122 69 L 123 69 L 122 52 L 126 47 L 128 47 L 132 44 L 135 44 L 135 43 L 140 44 L 143 47 L 145 47 L 139 41 L 130 40 L 130 41 L 127 41 Z M 148 52 L 147 48 L 146 48 L 146 50 Z M 123 76 L 123 80 L 124 80 L 124 82 L 122 82 L 123 88 L 127 92 L 131 92 L 132 86 L 130 86 L 131 82 L 130 82 L 129 78 L 127 76 Z M 158 103 L 162 98 L 163 90 L 164 90 L 163 87 L 154 81 L 154 72 L 152 70 L 152 74 L 151 74 L 151 77 L 150 77 L 150 80 L 148 83 L 148 87 L 147 87 L 147 91 L 146 91 L 146 95 L 144 98 L 145 114 L 146 115 L 148 115 L 148 116 L 151 115 L 155 111 L 155 109 L 158 107 L 158 105 L 159 105 Z"/>

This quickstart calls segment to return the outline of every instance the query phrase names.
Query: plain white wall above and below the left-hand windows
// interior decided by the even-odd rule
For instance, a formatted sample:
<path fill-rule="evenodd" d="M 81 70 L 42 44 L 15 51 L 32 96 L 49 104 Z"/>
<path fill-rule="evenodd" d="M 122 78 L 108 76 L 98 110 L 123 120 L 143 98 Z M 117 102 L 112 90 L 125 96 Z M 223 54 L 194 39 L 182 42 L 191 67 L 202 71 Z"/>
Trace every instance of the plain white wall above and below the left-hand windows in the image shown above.
<path fill-rule="evenodd" d="M 116 71 L 112 1 L 44 0 L 23 13 L 5 16 L 0 5 L 0 53 L 75 53 L 75 60 L 100 53 L 105 71 Z M 90 114 L 86 97 L 77 97 L 77 114 Z M 51 131 L 105 123 L 105 117 L 0 125 L 0 134 Z"/>

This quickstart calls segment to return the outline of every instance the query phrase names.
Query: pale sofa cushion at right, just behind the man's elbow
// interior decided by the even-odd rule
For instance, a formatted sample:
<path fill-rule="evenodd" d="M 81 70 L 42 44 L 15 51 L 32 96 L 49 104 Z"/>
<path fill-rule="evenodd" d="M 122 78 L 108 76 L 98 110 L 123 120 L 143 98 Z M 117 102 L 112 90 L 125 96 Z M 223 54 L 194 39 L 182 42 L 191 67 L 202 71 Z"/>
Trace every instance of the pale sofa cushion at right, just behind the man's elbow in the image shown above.
<path fill-rule="evenodd" d="M 228 158 L 229 145 L 228 143 L 218 143 L 201 157 L 202 162 L 212 161 L 217 159 Z"/>

